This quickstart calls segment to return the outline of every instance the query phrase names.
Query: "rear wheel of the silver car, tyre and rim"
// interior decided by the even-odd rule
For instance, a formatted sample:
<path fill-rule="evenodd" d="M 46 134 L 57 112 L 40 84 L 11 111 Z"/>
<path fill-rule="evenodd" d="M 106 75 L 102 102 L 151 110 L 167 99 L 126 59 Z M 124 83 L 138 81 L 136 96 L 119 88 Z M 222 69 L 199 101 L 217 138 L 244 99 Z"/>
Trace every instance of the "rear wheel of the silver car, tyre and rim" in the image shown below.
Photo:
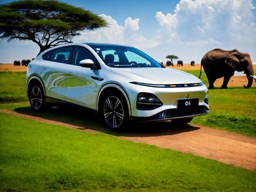
<path fill-rule="evenodd" d="M 44 90 L 39 83 L 33 84 L 28 90 L 28 97 L 30 99 L 30 106 L 34 111 L 43 111 L 47 108 Z"/>

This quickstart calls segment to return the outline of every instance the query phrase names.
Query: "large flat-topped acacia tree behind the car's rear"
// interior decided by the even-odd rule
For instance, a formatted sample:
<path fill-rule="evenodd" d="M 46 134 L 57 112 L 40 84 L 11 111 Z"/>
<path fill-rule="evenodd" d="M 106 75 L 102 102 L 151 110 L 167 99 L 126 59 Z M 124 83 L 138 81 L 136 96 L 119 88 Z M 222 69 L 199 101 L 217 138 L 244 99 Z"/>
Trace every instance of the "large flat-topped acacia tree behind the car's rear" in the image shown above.
<path fill-rule="evenodd" d="M 40 52 L 71 43 L 82 30 L 105 27 L 100 16 L 59 1 L 23 0 L 0 5 L 0 39 L 31 40 Z M 39 52 L 39 53 L 40 53 Z"/>

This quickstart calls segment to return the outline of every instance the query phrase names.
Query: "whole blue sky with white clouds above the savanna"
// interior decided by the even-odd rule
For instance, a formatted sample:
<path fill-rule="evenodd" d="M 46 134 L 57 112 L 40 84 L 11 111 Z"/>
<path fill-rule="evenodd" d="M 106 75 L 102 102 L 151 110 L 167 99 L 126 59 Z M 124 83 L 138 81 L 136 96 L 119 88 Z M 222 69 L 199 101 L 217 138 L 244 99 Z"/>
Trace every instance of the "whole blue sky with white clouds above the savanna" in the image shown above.
<path fill-rule="evenodd" d="M 6 3 L 10 1 L 0 1 Z M 84 31 L 73 41 L 132 45 L 166 61 L 177 55 L 195 60 L 213 48 L 248 52 L 256 61 L 256 1 L 63 1 L 102 16 L 109 27 Z M 31 59 L 39 52 L 31 41 L 0 40 L 0 63 Z"/>

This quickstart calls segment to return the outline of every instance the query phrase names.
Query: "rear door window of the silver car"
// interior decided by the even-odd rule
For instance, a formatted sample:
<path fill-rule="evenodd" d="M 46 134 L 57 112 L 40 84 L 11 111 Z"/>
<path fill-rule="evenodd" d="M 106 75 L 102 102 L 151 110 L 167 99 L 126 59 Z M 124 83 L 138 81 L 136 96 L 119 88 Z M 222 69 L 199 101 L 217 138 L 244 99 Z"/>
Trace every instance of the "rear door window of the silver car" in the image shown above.
<path fill-rule="evenodd" d="M 51 61 L 62 62 L 67 64 L 69 56 L 71 55 L 72 47 L 63 47 L 55 49 L 52 52 Z"/>

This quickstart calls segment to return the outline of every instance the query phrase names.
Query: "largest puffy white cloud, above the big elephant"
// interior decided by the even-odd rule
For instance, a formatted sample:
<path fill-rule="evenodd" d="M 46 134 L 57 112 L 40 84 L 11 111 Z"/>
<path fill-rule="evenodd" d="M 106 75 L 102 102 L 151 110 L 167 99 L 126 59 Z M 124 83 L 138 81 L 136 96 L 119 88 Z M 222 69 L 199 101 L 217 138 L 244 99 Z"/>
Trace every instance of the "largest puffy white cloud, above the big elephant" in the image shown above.
<path fill-rule="evenodd" d="M 212 48 L 237 48 L 256 60 L 254 9 L 251 0 L 181 0 L 172 13 L 156 12 L 160 26 L 156 38 L 162 46 L 170 45 L 177 55 L 189 58 L 194 52 L 197 58 L 188 61 L 199 62 Z M 170 51 L 164 52 L 167 54 Z"/>

